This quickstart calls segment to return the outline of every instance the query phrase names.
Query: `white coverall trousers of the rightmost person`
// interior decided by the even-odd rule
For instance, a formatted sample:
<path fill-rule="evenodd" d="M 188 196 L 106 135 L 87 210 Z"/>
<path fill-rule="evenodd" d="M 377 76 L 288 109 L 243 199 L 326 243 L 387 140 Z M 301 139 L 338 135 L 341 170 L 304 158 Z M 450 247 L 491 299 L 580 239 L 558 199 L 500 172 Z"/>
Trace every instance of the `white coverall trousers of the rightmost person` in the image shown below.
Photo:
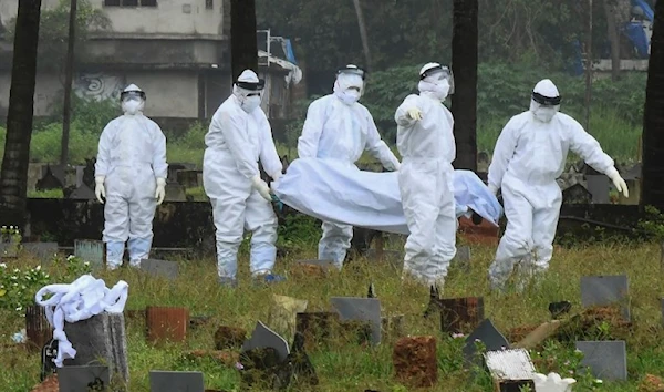
<path fill-rule="evenodd" d="M 562 205 L 562 192 L 556 180 L 526 185 L 507 173 L 500 188 L 507 228 L 489 267 L 494 289 L 505 287 L 515 267 L 527 276 L 549 268 Z"/>

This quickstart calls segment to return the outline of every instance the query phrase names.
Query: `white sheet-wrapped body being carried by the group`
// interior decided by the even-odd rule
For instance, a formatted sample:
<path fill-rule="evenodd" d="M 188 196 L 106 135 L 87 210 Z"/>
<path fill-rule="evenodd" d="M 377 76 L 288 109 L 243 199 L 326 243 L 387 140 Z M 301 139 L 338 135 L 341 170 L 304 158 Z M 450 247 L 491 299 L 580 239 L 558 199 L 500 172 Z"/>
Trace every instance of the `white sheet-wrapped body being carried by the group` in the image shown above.
<path fill-rule="evenodd" d="M 283 204 L 321 220 L 408 235 L 397 176 L 333 159 L 298 158 L 272 190 Z M 498 226 L 502 207 L 475 173 L 454 172 L 454 196 L 457 217 L 474 210 Z"/>

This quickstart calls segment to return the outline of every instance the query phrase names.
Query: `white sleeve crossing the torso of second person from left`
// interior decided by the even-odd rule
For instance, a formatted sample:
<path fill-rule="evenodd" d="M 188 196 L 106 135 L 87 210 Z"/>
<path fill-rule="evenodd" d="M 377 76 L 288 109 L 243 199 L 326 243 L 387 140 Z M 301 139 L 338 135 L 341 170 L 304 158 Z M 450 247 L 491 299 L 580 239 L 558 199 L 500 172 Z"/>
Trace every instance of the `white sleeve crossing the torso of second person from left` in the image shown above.
<path fill-rule="evenodd" d="M 247 120 L 221 112 L 219 117 L 212 117 L 211 126 L 214 132 L 221 132 L 240 174 L 247 178 L 259 175 L 258 165 L 251 155 L 251 144 L 245 132 Z"/>

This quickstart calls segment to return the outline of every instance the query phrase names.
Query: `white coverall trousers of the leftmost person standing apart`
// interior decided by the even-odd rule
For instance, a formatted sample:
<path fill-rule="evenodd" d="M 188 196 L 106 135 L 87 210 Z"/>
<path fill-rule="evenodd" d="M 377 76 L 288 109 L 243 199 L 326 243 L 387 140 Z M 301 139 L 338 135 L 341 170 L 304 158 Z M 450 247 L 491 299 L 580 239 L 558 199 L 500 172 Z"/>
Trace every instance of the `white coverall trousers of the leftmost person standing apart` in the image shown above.
<path fill-rule="evenodd" d="M 106 265 L 122 265 L 124 245 L 128 239 L 129 264 L 139 267 L 149 257 L 153 240 L 153 219 L 157 208 L 157 187 L 152 165 L 117 165 L 106 176 L 104 233 Z"/>

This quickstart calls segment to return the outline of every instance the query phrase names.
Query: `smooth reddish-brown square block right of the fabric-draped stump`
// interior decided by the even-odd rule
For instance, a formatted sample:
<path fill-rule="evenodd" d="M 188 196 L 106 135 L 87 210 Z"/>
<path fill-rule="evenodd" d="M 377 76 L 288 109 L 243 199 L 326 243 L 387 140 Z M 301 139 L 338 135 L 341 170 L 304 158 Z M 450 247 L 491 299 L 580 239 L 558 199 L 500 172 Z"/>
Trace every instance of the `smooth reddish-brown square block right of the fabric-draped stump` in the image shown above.
<path fill-rule="evenodd" d="M 189 309 L 187 308 L 147 307 L 145 318 L 147 341 L 149 342 L 181 342 L 187 338 L 187 327 L 189 326 Z"/>

